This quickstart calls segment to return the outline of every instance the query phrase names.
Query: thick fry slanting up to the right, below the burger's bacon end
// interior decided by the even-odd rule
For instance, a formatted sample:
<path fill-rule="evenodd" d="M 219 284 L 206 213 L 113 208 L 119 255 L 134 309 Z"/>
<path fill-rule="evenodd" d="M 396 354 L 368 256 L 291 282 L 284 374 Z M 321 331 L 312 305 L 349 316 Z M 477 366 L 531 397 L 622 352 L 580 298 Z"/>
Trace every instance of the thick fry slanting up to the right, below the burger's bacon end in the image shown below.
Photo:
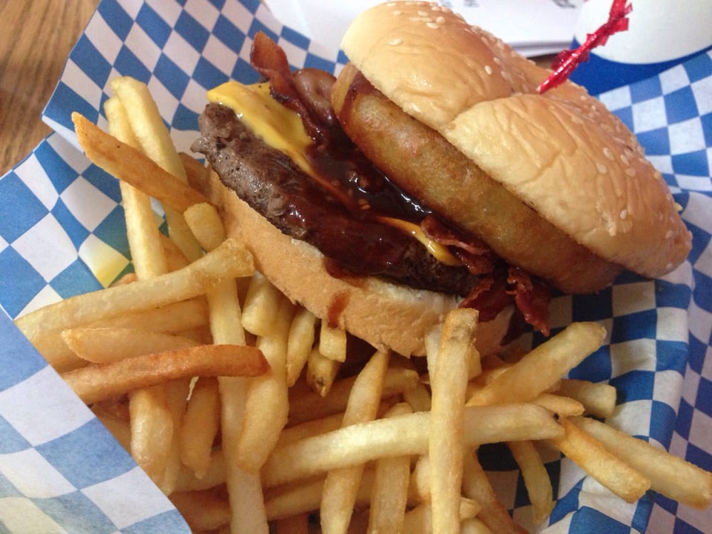
<path fill-rule="evenodd" d="M 597 350 L 605 335 L 597 323 L 572 323 L 475 392 L 467 404 L 527 402 Z"/>

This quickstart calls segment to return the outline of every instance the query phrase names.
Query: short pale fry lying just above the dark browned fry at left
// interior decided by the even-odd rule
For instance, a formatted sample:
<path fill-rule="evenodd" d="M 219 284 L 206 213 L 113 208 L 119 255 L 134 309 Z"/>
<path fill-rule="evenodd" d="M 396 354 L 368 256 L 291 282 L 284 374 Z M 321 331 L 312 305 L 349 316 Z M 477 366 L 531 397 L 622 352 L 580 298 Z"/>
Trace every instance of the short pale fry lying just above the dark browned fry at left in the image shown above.
<path fill-rule="evenodd" d="M 199 345 L 187 337 L 130 328 L 69 328 L 62 339 L 82 360 L 110 363 L 128 357 Z"/>

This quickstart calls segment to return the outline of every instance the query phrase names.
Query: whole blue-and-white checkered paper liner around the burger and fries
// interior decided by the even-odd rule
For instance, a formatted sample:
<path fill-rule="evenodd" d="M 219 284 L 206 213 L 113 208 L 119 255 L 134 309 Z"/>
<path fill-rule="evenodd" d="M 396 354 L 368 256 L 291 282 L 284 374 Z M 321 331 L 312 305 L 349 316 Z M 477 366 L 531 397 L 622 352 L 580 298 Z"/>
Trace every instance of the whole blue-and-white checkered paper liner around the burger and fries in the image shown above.
<path fill-rule="evenodd" d="M 188 150 L 206 89 L 256 79 L 248 52 L 260 30 L 294 67 L 334 71 L 346 61 L 282 26 L 258 0 L 102 1 L 43 115 L 56 133 L 0 179 L 0 532 L 188 531 L 9 318 L 131 268 L 117 183 L 76 149 L 70 112 L 105 125 L 108 80 L 132 75 L 148 83 L 177 146 Z M 712 470 L 712 54 L 600 98 L 671 185 L 693 251 L 664 278 L 625 273 L 598 295 L 555 298 L 554 330 L 602 323 L 609 339 L 571 376 L 611 382 L 619 389 L 612 424 Z M 490 446 L 481 459 L 529 525 L 511 457 Z M 712 519 L 652 492 L 622 503 L 570 461 L 546 459 L 558 501 L 544 532 L 703 532 Z"/>

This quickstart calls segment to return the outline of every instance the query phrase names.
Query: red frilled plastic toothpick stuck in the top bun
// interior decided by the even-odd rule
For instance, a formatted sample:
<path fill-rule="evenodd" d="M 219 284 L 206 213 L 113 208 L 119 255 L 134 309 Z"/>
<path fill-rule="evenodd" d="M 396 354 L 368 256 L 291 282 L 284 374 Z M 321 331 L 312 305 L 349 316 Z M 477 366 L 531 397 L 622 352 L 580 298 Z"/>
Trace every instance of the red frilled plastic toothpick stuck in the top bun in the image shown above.
<path fill-rule="evenodd" d="M 551 64 L 553 73 L 539 85 L 538 93 L 542 94 L 564 83 L 580 63 L 588 60 L 588 55 L 592 48 L 604 45 L 614 33 L 626 31 L 628 29 L 627 16 L 631 11 L 633 11 L 633 6 L 632 4 L 627 4 L 627 0 L 613 0 L 607 22 L 594 33 L 587 33 L 586 41 L 578 48 L 565 50 L 557 54 Z"/>

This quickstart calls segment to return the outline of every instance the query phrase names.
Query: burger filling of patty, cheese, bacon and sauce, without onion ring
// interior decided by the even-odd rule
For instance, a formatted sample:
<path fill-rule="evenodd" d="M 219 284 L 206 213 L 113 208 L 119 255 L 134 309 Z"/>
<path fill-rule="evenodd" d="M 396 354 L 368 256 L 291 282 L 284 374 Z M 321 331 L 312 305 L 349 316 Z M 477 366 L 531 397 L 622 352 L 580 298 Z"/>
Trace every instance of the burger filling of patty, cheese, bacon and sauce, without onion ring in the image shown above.
<path fill-rule="evenodd" d="M 283 234 L 319 248 L 333 276 L 382 276 L 460 295 L 482 320 L 515 303 L 548 334 L 548 286 L 508 268 L 375 167 L 336 119 L 333 76 L 292 73 L 263 33 L 251 61 L 268 82 L 211 90 L 193 147 L 227 187 Z M 363 82 L 360 91 L 375 91 Z"/>

